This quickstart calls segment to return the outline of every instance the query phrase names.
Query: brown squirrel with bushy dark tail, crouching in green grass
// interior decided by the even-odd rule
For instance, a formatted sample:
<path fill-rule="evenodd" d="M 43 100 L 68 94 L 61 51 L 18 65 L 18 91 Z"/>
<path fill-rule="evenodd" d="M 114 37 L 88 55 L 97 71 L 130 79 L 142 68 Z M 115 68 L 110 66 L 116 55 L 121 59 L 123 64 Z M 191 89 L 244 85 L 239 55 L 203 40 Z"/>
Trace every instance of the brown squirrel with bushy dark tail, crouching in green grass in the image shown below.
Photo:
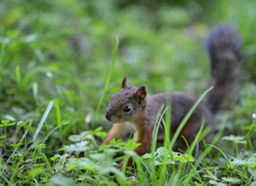
<path fill-rule="evenodd" d="M 190 116 L 180 133 L 191 144 L 195 140 L 202 122 L 205 126 L 211 126 L 214 114 L 220 110 L 224 100 L 230 100 L 237 90 L 239 73 L 243 60 L 241 58 L 241 39 L 238 33 L 229 25 L 216 27 L 206 40 L 206 48 L 209 53 L 211 77 L 206 101 L 200 102 L 195 112 Z M 146 153 L 152 143 L 152 133 L 159 109 L 168 100 L 171 102 L 171 133 L 182 122 L 183 117 L 195 104 L 195 97 L 183 92 L 159 93 L 147 97 L 146 86 L 128 86 L 127 76 L 122 81 L 122 88 L 112 96 L 105 118 L 115 123 L 103 143 L 112 139 L 119 139 L 121 133 L 126 131 L 126 123 L 135 126 L 136 143 L 141 146 L 132 151 L 140 156 Z M 158 136 L 164 134 L 164 126 L 160 124 Z M 131 166 L 132 159 L 128 159 Z M 122 168 L 123 162 L 118 166 Z"/>

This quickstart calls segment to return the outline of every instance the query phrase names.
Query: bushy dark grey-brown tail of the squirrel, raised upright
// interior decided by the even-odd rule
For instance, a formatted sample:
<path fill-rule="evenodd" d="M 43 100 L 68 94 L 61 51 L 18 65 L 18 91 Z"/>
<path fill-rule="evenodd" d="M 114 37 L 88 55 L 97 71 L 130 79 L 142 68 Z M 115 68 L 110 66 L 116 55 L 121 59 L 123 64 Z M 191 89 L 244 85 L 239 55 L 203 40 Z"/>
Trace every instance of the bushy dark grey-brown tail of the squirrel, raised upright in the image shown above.
<path fill-rule="evenodd" d="M 211 69 L 209 87 L 214 86 L 209 91 L 207 105 L 212 113 L 237 92 L 243 64 L 241 43 L 240 35 L 229 25 L 216 27 L 206 40 Z"/>

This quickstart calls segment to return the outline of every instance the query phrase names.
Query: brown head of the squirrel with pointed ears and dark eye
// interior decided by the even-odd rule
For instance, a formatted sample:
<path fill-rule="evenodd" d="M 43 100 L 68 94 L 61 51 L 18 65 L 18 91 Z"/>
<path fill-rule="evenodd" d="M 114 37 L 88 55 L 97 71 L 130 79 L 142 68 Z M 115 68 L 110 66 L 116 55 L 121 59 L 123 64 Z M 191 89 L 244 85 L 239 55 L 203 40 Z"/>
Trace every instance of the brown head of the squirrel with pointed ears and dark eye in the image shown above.
<path fill-rule="evenodd" d="M 108 105 L 105 118 L 113 123 L 136 123 L 146 106 L 146 86 L 128 86 L 127 75 L 122 88 L 115 93 Z"/>

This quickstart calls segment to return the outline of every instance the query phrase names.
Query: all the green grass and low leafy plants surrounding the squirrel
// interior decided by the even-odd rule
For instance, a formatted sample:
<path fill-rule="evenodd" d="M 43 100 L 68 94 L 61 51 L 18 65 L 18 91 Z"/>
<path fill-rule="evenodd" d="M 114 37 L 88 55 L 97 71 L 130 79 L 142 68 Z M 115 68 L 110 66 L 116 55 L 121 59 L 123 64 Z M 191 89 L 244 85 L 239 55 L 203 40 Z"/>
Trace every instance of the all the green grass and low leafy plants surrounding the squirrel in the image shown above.
<path fill-rule="evenodd" d="M 2 0 L 0 185 L 255 184 L 255 5 Z M 241 33 L 248 63 L 236 98 L 216 115 L 212 141 L 178 155 L 167 133 L 142 157 L 130 151 L 132 140 L 101 146 L 111 126 L 105 106 L 125 74 L 150 95 L 206 91 L 203 40 L 220 22 Z M 137 167 L 125 174 L 116 162 L 127 155 Z"/>

